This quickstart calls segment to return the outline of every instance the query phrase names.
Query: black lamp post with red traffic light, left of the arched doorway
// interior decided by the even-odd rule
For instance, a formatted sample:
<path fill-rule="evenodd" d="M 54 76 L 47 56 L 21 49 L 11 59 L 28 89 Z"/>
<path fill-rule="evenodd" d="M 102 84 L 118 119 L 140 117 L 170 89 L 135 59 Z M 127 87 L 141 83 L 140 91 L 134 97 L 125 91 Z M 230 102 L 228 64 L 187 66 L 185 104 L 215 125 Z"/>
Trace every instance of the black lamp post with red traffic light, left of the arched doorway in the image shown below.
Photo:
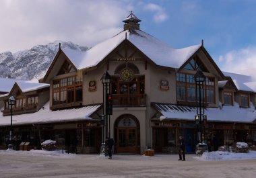
<path fill-rule="evenodd" d="M 107 71 L 102 75 L 101 82 L 103 84 L 103 115 L 104 115 L 103 120 L 104 120 L 104 122 L 103 122 L 103 127 L 102 127 L 102 146 L 101 146 L 100 153 L 106 155 L 106 152 L 104 151 L 105 137 L 109 136 L 109 134 L 108 134 L 108 115 L 106 112 L 106 102 L 107 102 L 106 95 L 109 94 L 109 90 L 110 90 L 110 75 L 108 74 Z"/>

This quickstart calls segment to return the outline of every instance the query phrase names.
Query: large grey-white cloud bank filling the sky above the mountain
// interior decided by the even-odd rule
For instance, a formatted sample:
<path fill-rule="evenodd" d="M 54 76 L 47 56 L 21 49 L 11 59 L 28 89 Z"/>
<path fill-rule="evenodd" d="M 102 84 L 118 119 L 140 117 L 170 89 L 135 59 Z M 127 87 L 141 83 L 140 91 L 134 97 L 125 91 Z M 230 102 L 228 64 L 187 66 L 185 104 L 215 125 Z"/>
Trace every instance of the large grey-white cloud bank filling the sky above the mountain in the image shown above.
<path fill-rule="evenodd" d="M 115 0 L 2 0 L 0 52 L 55 40 L 90 47 L 120 32 L 130 9 L 127 2 Z"/>

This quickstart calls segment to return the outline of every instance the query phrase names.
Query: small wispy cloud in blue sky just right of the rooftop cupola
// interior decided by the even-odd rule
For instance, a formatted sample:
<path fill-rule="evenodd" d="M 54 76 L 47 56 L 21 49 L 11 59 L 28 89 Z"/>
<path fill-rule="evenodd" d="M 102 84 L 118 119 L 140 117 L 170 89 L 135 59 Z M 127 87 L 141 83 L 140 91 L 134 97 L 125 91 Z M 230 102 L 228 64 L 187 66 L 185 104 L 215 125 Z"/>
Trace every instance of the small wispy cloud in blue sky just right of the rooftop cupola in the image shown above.
<path fill-rule="evenodd" d="M 168 15 L 164 11 L 164 9 L 159 5 L 156 5 L 154 3 L 148 3 L 145 5 L 144 9 L 154 12 L 153 18 L 155 22 L 162 22 L 168 19 Z"/>

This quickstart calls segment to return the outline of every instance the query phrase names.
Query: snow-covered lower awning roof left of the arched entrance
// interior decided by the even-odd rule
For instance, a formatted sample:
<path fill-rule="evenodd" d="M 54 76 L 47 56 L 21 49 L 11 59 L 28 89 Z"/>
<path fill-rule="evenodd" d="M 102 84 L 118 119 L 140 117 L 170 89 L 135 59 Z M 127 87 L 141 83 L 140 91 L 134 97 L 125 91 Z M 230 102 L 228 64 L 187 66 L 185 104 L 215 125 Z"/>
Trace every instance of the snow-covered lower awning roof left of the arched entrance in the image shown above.
<path fill-rule="evenodd" d="M 43 124 L 51 122 L 63 122 L 74 120 L 91 120 L 90 116 L 96 112 L 100 105 L 91 105 L 81 108 L 63 109 L 51 111 L 47 102 L 38 112 L 32 114 L 20 114 L 13 116 L 13 125 Z M 0 114 L 0 126 L 9 126 L 10 116 Z"/>

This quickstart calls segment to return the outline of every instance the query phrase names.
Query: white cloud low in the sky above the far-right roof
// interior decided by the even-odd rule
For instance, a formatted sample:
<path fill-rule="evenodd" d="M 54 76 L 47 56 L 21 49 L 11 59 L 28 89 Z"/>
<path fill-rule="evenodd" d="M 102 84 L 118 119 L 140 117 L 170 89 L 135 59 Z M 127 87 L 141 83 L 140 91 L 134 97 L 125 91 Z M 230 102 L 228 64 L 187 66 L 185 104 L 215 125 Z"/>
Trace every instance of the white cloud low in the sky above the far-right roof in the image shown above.
<path fill-rule="evenodd" d="M 247 69 L 256 69 L 256 46 L 232 50 L 218 57 L 222 71 L 239 73 Z"/>

